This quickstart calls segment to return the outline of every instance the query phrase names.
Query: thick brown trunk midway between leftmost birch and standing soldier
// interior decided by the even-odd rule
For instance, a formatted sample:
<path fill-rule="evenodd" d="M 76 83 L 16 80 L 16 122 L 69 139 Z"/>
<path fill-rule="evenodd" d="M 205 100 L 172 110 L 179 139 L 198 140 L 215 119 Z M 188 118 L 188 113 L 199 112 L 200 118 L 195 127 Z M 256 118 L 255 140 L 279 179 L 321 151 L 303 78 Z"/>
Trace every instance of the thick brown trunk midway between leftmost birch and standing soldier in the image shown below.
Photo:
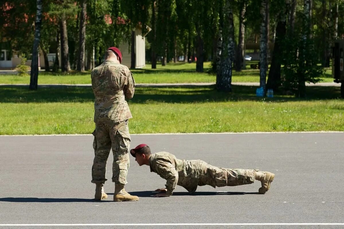
<path fill-rule="evenodd" d="M 69 64 L 69 51 L 68 51 L 68 35 L 67 35 L 67 23 L 66 16 L 63 13 L 60 21 L 61 32 L 61 71 L 69 72 L 71 65 Z"/>

